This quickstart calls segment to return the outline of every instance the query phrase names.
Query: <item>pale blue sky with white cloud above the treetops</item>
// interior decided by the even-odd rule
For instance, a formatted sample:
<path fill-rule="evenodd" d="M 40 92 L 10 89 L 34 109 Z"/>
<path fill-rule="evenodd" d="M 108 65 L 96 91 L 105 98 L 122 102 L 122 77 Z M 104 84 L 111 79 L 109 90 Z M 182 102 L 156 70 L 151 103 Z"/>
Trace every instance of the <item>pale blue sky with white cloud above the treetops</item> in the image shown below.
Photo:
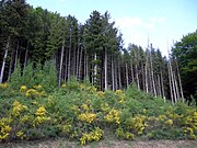
<path fill-rule="evenodd" d="M 197 30 L 197 0 L 26 0 L 62 16 L 74 15 L 84 23 L 97 10 L 106 11 L 115 26 L 123 33 L 124 47 L 128 44 L 143 48 L 152 43 L 167 55 L 173 42 Z"/>

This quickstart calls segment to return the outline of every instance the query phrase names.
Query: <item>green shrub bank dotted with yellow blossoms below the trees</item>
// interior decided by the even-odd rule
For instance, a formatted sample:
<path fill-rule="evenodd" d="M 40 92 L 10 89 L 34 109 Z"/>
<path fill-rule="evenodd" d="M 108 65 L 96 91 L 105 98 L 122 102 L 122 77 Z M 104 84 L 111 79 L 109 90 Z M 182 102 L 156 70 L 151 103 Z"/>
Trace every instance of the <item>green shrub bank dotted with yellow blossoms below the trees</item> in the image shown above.
<path fill-rule="evenodd" d="M 31 67 L 31 64 L 26 66 L 19 89 L 9 83 L 0 86 L 1 141 L 65 137 L 85 145 L 109 135 L 126 140 L 141 136 L 197 138 L 197 112 L 184 103 L 172 106 L 135 87 L 126 92 L 97 91 L 91 83 L 79 83 L 76 78 L 57 88 L 55 76 L 51 77 L 53 62 L 34 68 L 35 81 L 31 88 L 24 83 L 30 81 L 26 77 L 32 76 Z M 18 83 L 15 76 L 13 82 Z"/>

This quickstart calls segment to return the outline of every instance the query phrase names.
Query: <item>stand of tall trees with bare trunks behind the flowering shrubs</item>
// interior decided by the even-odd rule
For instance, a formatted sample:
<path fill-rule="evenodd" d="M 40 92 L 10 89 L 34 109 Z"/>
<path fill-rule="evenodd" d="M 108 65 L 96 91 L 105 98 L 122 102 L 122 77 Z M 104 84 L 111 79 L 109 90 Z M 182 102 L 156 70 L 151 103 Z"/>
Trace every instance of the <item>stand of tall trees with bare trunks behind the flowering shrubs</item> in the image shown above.
<path fill-rule="evenodd" d="M 135 83 L 154 96 L 197 98 L 197 31 L 183 36 L 163 57 L 148 42 L 147 48 L 129 44 L 108 12 L 93 11 L 84 24 L 25 0 L 0 1 L 0 83 L 10 81 L 20 65 L 33 67 L 51 60 L 58 86 L 70 78 L 89 80 L 99 90 L 126 89 Z M 130 41 L 132 42 L 132 41 Z"/>

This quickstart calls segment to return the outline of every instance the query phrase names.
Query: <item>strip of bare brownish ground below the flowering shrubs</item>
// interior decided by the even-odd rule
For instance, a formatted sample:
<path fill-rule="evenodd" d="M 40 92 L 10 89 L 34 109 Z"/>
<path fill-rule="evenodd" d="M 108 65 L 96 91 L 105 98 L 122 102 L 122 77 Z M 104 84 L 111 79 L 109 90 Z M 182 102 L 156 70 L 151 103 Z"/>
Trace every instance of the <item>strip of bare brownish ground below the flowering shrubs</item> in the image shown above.
<path fill-rule="evenodd" d="M 197 148 L 197 140 L 113 140 L 104 139 L 81 146 L 63 140 L 26 141 L 0 144 L 0 148 Z"/>

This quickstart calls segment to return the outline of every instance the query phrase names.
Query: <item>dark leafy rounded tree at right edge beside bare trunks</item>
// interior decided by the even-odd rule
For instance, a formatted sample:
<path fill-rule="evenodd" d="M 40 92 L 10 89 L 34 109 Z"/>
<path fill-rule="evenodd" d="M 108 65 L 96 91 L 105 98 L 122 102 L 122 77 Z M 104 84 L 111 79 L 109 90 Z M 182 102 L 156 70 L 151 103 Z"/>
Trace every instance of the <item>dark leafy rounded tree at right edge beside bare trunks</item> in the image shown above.
<path fill-rule="evenodd" d="M 172 48 L 172 54 L 177 59 L 186 96 L 189 98 L 193 94 L 196 98 L 197 31 L 183 36 Z"/>

